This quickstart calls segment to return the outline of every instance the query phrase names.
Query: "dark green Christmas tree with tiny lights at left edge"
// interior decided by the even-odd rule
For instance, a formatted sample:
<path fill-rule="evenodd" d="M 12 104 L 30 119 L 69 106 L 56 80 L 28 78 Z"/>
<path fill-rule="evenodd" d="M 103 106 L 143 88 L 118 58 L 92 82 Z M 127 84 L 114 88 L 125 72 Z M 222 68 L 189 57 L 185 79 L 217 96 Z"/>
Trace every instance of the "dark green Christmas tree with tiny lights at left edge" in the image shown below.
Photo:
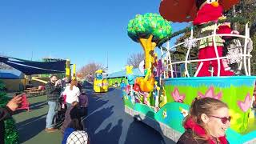
<path fill-rule="evenodd" d="M 6 106 L 6 103 L 10 98 L 6 97 L 6 92 L 4 91 L 4 84 L 0 81 L 0 107 Z M 5 121 L 5 143 L 6 144 L 18 144 L 18 131 L 15 127 L 15 121 L 13 118 L 7 119 Z"/>

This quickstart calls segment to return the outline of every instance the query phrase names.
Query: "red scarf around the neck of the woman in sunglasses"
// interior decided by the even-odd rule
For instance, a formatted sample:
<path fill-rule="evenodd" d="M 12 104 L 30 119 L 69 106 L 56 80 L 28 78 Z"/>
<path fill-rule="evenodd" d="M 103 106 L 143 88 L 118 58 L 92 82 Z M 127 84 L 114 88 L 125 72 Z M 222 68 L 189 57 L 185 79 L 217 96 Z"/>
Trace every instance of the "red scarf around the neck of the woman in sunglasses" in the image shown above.
<path fill-rule="evenodd" d="M 199 126 L 196 122 L 194 122 L 193 118 L 189 118 L 186 123 L 185 123 L 185 129 L 191 129 L 194 131 L 195 134 L 197 134 L 199 137 L 204 137 L 206 136 L 206 131 L 202 128 L 202 126 Z M 209 144 L 215 144 L 214 140 L 210 137 L 208 138 L 207 141 Z M 220 144 L 227 144 L 226 137 L 219 137 L 218 140 L 220 141 Z"/>

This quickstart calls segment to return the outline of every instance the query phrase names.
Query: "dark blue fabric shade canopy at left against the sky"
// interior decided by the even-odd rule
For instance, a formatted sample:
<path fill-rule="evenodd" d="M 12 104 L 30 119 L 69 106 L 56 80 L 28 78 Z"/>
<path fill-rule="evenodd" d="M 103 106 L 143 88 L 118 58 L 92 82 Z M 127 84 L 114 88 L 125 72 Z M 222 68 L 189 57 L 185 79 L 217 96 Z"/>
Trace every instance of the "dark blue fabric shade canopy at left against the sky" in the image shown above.
<path fill-rule="evenodd" d="M 14 59 L 14 60 L 12 60 Z M 35 62 L 19 58 L 0 57 L 0 62 L 22 71 L 26 75 L 56 74 L 66 72 L 66 60 L 56 62 Z"/>

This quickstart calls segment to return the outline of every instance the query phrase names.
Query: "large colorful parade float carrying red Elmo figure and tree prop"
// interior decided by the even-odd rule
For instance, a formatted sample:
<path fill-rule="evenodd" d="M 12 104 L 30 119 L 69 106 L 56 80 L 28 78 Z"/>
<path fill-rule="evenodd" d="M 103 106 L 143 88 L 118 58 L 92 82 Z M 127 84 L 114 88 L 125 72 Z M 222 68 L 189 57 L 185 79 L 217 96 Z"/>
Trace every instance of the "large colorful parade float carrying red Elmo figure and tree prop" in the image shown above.
<path fill-rule="evenodd" d="M 132 68 L 126 67 L 128 85 L 122 93 L 126 113 L 177 142 L 185 131 L 182 121 L 194 98 L 217 98 L 230 108 L 228 141 L 256 143 L 252 109 L 256 77 L 250 76 L 250 28 L 245 23 L 244 34 L 239 34 L 230 29 L 234 19 L 222 14 L 223 9 L 229 10 L 237 3 L 163 0 L 161 15 L 138 14 L 130 20 L 128 35 L 144 50 L 145 77 L 134 79 Z M 170 22 L 191 22 L 189 29 L 179 31 L 189 37 L 174 46 L 169 42 L 178 34 L 172 34 Z M 231 44 L 224 45 L 224 39 Z M 179 61 L 173 56 L 178 47 L 186 51 Z M 224 48 L 227 54 L 222 53 Z M 190 58 L 194 50 L 197 57 Z"/>

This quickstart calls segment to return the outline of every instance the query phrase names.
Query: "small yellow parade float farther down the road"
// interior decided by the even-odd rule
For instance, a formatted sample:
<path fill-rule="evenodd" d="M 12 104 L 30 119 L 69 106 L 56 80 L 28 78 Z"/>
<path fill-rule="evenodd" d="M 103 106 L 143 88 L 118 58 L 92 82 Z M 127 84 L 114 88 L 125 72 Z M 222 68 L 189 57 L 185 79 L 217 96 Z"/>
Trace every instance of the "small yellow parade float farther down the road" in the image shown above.
<path fill-rule="evenodd" d="M 97 70 L 94 75 L 94 92 L 103 93 L 109 90 L 108 81 L 103 78 L 103 71 Z"/>

